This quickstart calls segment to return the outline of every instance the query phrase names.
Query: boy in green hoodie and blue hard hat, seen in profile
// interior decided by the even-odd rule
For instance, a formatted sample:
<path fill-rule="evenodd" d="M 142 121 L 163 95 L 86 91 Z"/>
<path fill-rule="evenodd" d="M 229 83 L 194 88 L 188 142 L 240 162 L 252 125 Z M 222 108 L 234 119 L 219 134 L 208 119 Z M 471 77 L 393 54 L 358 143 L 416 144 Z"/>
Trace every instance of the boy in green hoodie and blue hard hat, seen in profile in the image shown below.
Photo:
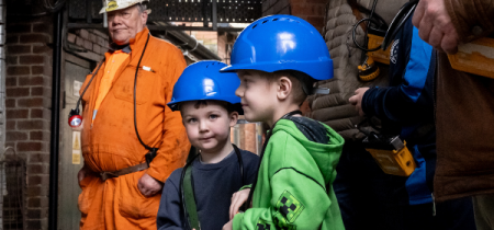
<path fill-rule="evenodd" d="M 237 72 L 246 119 L 271 127 L 251 194 L 234 195 L 223 229 L 345 229 L 332 187 L 344 139 L 299 111 L 315 80 L 333 78 L 319 32 L 296 16 L 262 18 L 240 33 L 222 71 Z M 236 214 L 246 199 L 251 208 Z"/>

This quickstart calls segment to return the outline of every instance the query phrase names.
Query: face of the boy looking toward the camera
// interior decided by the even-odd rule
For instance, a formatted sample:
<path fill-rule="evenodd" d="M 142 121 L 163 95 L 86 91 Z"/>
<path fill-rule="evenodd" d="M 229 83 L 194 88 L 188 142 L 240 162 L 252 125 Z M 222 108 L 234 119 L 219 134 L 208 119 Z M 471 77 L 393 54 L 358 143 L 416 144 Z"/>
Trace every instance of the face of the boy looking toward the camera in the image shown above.
<path fill-rule="evenodd" d="M 183 126 L 192 146 L 202 152 L 220 152 L 229 142 L 229 127 L 235 126 L 238 113 L 228 114 L 214 101 L 198 107 L 197 101 L 180 105 Z"/>

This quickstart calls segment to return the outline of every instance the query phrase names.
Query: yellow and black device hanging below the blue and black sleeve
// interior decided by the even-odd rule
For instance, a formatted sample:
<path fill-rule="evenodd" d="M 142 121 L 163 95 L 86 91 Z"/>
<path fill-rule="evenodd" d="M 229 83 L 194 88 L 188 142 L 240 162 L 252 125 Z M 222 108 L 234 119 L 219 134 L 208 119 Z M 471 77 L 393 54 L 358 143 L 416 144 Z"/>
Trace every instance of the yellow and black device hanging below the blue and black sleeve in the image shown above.
<path fill-rule="evenodd" d="M 398 136 L 385 137 L 371 133 L 362 143 L 386 174 L 409 176 L 417 168 L 406 141 L 402 141 Z"/>

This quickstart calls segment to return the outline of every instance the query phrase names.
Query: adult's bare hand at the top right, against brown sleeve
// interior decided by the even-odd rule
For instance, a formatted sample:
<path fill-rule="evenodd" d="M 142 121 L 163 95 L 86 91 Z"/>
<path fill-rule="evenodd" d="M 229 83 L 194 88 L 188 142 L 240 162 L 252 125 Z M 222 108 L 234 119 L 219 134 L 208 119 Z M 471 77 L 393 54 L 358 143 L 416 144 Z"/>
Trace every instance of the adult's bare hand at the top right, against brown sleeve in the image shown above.
<path fill-rule="evenodd" d="M 418 28 L 420 38 L 434 48 L 448 54 L 458 51 L 460 38 L 446 10 L 445 0 L 420 0 L 412 23 Z"/>

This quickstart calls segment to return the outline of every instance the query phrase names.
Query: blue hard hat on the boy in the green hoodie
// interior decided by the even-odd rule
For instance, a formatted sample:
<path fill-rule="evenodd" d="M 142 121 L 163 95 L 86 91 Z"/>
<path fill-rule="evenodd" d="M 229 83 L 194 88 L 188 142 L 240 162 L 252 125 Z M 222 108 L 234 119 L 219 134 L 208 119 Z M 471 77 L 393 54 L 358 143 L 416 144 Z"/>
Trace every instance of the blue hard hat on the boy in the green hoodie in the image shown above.
<path fill-rule="evenodd" d="M 333 78 L 333 60 L 319 32 L 292 15 L 259 19 L 238 36 L 232 50 L 232 65 L 224 71 L 295 70 L 315 80 Z"/>

